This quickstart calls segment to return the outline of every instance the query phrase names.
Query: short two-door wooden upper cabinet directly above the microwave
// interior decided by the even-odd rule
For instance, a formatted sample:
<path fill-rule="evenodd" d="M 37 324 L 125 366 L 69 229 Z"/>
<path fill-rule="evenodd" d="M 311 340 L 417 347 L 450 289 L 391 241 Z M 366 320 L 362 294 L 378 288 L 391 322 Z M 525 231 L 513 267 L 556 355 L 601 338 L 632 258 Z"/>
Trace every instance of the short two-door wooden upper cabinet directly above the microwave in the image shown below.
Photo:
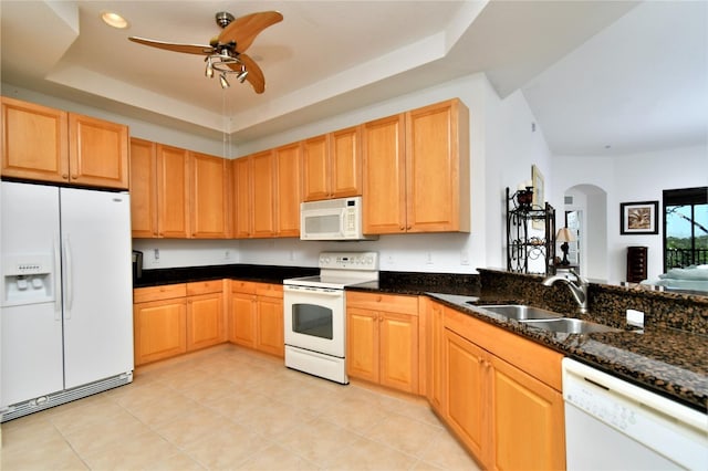
<path fill-rule="evenodd" d="M 361 126 L 303 142 L 304 201 L 362 195 Z"/>

